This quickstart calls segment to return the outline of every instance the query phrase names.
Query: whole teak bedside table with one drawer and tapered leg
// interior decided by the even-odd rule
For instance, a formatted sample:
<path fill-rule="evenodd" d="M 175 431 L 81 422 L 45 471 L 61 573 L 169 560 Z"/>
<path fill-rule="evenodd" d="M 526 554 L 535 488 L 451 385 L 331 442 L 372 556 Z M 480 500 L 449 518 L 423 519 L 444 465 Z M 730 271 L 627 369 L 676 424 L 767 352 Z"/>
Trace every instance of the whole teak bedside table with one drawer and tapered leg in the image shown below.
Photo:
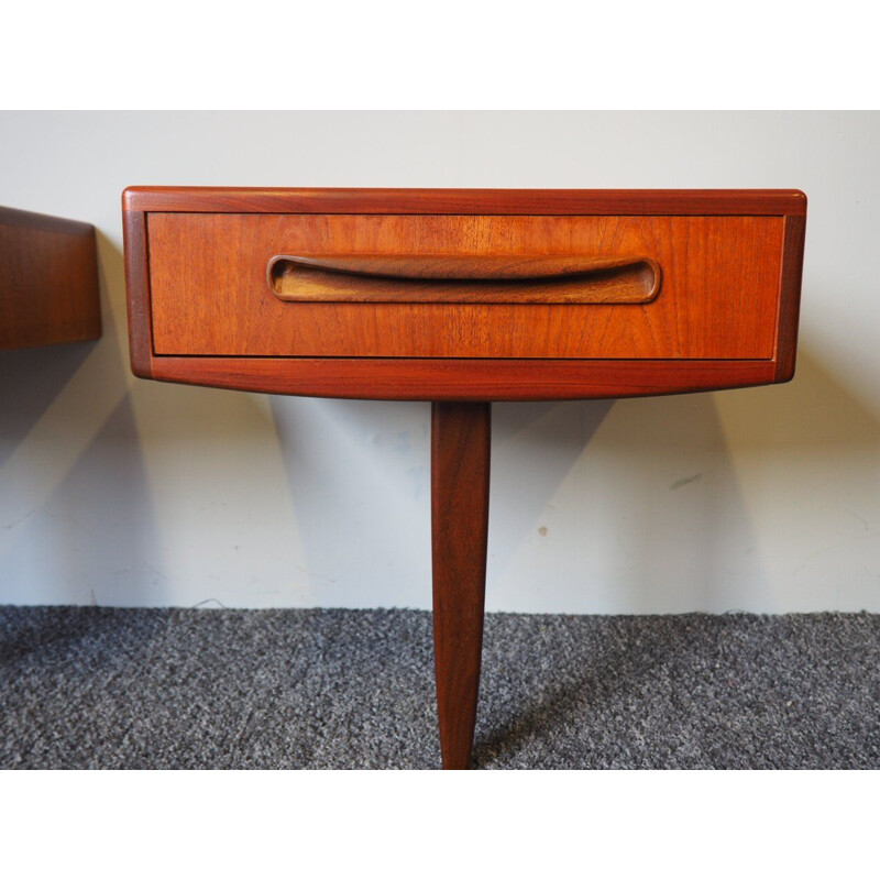
<path fill-rule="evenodd" d="M 794 373 L 796 190 L 134 187 L 133 372 L 431 400 L 443 767 L 476 717 L 492 400 L 713 391 Z"/>

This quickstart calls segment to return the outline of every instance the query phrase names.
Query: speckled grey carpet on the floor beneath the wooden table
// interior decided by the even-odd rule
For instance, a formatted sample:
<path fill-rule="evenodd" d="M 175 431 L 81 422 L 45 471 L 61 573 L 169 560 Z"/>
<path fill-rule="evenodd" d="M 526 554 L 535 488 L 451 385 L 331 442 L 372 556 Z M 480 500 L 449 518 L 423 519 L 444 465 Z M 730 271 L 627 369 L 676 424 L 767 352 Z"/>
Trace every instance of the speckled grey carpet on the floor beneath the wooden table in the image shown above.
<path fill-rule="evenodd" d="M 0 767 L 433 768 L 413 610 L 0 607 Z M 880 615 L 488 615 L 479 768 L 878 768 Z"/>

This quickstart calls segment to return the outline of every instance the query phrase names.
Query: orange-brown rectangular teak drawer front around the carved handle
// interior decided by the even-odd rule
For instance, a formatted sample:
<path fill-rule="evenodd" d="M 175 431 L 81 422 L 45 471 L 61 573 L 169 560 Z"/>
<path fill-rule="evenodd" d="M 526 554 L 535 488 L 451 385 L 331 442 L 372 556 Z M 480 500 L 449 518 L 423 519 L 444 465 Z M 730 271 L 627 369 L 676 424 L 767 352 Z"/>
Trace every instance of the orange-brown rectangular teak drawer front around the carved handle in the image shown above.
<path fill-rule="evenodd" d="M 772 359 L 783 230 L 784 218 L 774 216 L 150 212 L 153 351 L 237 358 Z M 441 274 L 460 273 L 481 258 L 486 265 L 531 261 L 539 271 L 528 283 L 513 284 L 436 277 L 417 284 L 373 277 L 361 284 L 345 271 L 319 273 L 332 282 L 321 288 L 330 293 L 312 286 L 298 295 L 296 283 L 285 286 L 268 271 L 283 255 L 337 258 L 337 264 L 342 257 L 343 270 L 363 268 L 364 261 L 353 258 L 370 257 L 392 275 L 396 264 L 384 257 L 409 258 L 400 263 L 404 274 L 411 274 L 414 255 L 429 264 L 436 257 L 432 265 L 440 265 Z M 600 266 L 598 274 L 583 276 L 582 288 L 540 277 L 554 265 L 568 272 L 578 261 Z M 631 277 L 620 276 L 619 290 L 617 270 L 602 270 L 615 261 L 620 272 L 631 271 Z M 656 267 L 656 276 L 638 288 L 646 266 L 651 273 Z M 602 278 L 610 278 L 610 294 L 595 296 L 612 301 L 584 301 Z"/>

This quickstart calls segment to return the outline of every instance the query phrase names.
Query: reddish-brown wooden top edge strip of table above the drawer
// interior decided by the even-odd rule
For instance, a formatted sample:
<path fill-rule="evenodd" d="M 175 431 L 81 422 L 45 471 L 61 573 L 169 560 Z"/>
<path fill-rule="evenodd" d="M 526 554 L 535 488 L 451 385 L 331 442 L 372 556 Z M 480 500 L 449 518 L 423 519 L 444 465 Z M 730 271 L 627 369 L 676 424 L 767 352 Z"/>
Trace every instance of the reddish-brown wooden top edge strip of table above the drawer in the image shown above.
<path fill-rule="evenodd" d="M 806 213 L 799 189 L 275 189 L 129 187 L 130 211 L 210 213 L 750 215 Z"/>

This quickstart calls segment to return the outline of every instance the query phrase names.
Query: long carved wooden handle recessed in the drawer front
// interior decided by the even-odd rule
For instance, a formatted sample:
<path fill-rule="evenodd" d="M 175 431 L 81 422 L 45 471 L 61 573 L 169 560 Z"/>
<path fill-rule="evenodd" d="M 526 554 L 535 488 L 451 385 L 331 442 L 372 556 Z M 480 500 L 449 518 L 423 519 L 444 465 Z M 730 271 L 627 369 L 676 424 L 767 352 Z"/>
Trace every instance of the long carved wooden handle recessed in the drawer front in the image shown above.
<path fill-rule="evenodd" d="M 660 266 L 644 256 L 273 256 L 272 293 L 288 302 L 645 304 Z"/>

